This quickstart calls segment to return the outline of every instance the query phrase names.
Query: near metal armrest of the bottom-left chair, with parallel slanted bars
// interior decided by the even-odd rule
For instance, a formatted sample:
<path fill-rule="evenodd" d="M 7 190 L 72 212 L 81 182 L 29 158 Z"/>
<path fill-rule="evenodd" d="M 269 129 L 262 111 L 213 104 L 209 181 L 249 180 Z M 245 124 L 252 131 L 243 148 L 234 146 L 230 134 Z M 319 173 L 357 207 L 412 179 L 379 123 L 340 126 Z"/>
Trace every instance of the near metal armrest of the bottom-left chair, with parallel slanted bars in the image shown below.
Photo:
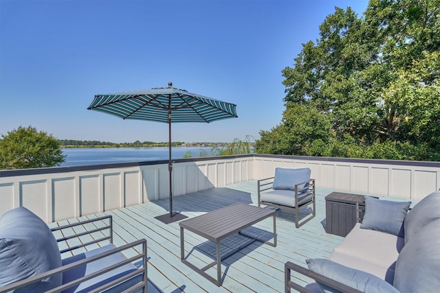
<path fill-rule="evenodd" d="M 136 246 L 142 246 L 142 253 L 140 253 L 139 255 L 136 255 L 135 257 L 131 257 L 129 259 L 125 259 L 124 261 L 119 261 L 117 263 L 114 263 L 113 265 L 111 265 L 107 268 L 102 268 L 101 270 L 98 270 L 97 272 L 88 274 L 85 277 L 80 277 L 80 278 L 76 279 L 75 281 L 72 281 L 67 284 L 63 284 L 63 285 L 61 285 L 57 288 L 54 288 L 50 291 L 47 291 L 47 292 L 61 292 L 63 290 L 66 290 L 67 288 L 71 288 L 75 285 L 79 285 L 80 283 L 83 283 L 84 281 L 87 281 L 89 279 L 93 279 L 94 277 L 97 277 L 100 274 L 104 274 L 106 272 L 114 270 L 115 268 L 124 266 L 127 263 L 132 263 L 133 261 L 136 261 L 138 259 L 142 259 L 142 267 L 141 268 L 138 268 L 137 270 L 130 272 L 129 274 L 126 274 L 118 279 L 110 281 L 109 283 L 105 283 L 104 285 L 101 285 L 99 288 L 96 288 L 94 291 L 91 291 L 91 292 L 101 292 L 102 290 L 106 290 L 107 288 L 111 288 L 114 285 L 117 285 L 118 283 L 122 283 L 123 281 L 131 279 L 132 277 L 137 276 L 139 274 L 143 274 L 142 282 L 137 283 L 136 285 L 133 285 L 133 288 L 144 287 L 144 292 L 146 292 L 146 287 L 147 287 L 147 283 L 146 283 L 147 282 L 147 276 L 146 276 L 146 239 L 140 239 L 135 242 L 131 242 L 130 244 L 126 244 L 124 246 L 120 246 L 120 247 L 105 251 L 104 253 L 99 253 L 98 255 L 94 255 L 92 257 L 87 257 L 85 259 L 80 259 L 78 261 L 74 261 L 73 263 L 69 263 L 69 264 L 66 264 L 65 266 L 61 266 L 60 268 L 56 268 L 54 270 L 49 270 L 47 272 L 44 272 L 43 274 L 37 274 L 34 277 L 30 277 L 28 279 L 17 281 L 15 283 L 10 284 L 10 285 L 6 285 L 4 287 L 1 287 L 0 291 L 1 292 L 9 292 L 12 290 L 17 290 L 17 289 L 22 288 L 26 285 L 30 285 L 32 283 L 42 281 L 43 279 L 47 279 L 48 277 L 54 276 L 56 274 L 61 274 L 63 272 L 67 272 L 68 270 L 72 270 L 74 268 L 77 268 L 78 266 L 84 266 L 87 263 L 97 261 L 98 259 L 102 259 L 104 257 L 109 257 L 110 255 L 113 255 L 116 253 L 121 253 L 124 250 L 132 249 L 132 248 L 135 248 Z"/>

